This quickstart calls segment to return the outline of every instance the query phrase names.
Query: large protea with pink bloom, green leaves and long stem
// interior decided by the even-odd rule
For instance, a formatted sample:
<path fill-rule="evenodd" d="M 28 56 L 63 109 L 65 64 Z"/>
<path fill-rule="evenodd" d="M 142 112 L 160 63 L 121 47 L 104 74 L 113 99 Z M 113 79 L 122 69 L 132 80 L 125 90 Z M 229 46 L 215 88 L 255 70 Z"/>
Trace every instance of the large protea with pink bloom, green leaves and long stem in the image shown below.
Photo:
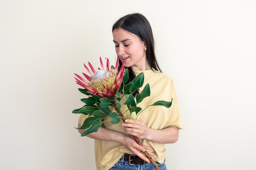
<path fill-rule="evenodd" d="M 100 57 L 101 69 L 96 71 L 92 64 L 88 62 L 91 71 L 84 64 L 86 70 L 90 74 L 83 73 L 83 77 L 76 75 L 76 84 L 79 84 L 84 89 L 79 88 L 79 91 L 88 96 L 88 98 L 81 99 L 85 105 L 82 108 L 73 110 L 72 113 L 81 113 L 88 115 L 83 125 L 79 129 L 86 129 L 81 136 L 88 135 L 92 132 L 97 132 L 99 127 L 105 121 L 111 121 L 112 124 L 118 124 L 120 121 L 132 119 L 132 113 L 135 112 L 137 117 L 149 106 L 165 106 L 171 107 L 171 102 L 157 101 L 146 108 L 137 107 L 137 104 L 142 102 L 145 97 L 150 96 L 149 84 L 146 84 L 144 89 L 135 97 L 132 95 L 144 83 L 144 74 L 140 73 L 131 82 L 128 81 L 128 69 L 124 68 L 124 62 L 118 71 L 119 59 L 117 59 L 115 67 L 111 66 L 107 59 L 106 70 Z M 121 102 L 121 99 L 123 102 Z M 127 110 L 121 110 L 123 105 L 127 106 Z M 124 113 L 129 112 L 130 117 L 126 117 Z M 136 119 L 137 119 L 136 117 Z M 102 121 L 104 120 L 104 121 Z M 142 146 L 140 140 L 136 136 L 132 136 L 137 144 Z M 157 170 L 160 170 L 155 161 L 150 157 L 147 151 L 144 152 L 146 157 L 153 163 Z"/>

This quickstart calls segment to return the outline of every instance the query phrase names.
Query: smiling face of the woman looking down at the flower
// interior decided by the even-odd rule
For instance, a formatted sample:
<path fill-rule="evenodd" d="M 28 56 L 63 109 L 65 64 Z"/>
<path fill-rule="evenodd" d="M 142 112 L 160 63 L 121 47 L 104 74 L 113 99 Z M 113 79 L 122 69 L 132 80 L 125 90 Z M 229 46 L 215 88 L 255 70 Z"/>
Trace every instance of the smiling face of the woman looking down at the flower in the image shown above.
<path fill-rule="evenodd" d="M 133 33 L 124 29 L 113 31 L 113 42 L 119 60 L 125 60 L 125 67 L 132 67 L 133 70 L 148 70 L 150 66 L 146 60 L 145 43 Z"/>

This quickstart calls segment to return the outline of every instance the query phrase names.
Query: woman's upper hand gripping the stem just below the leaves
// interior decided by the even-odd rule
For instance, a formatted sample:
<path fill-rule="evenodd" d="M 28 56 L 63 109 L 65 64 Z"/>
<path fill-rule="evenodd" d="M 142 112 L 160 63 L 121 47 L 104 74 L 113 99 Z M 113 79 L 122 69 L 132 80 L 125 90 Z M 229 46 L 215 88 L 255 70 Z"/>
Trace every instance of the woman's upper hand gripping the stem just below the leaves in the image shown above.
<path fill-rule="evenodd" d="M 149 135 L 149 128 L 146 126 L 144 121 L 126 119 L 125 123 L 122 124 L 124 131 L 130 135 L 134 135 L 139 139 L 147 139 Z"/>

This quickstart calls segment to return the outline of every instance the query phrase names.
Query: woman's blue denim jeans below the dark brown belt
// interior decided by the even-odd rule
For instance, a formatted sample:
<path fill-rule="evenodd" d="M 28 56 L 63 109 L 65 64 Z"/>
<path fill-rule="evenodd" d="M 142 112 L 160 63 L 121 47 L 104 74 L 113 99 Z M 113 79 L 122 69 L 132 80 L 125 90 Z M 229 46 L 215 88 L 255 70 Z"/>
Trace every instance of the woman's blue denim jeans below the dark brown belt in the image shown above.
<path fill-rule="evenodd" d="M 164 163 L 158 163 L 158 162 L 156 163 L 161 170 L 167 170 L 165 165 L 165 160 L 164 160 Z M 128 161 L 124 161 L 124 155 L 123 155 L 121 159 L 117 161 L 117 163 L 114 166 L 112 166 L 112 168 L 110 168 L 109 170 L 156 170 L 156 169 L 152 163 L 144 163 L 141 165 L 130 165 Z"/>

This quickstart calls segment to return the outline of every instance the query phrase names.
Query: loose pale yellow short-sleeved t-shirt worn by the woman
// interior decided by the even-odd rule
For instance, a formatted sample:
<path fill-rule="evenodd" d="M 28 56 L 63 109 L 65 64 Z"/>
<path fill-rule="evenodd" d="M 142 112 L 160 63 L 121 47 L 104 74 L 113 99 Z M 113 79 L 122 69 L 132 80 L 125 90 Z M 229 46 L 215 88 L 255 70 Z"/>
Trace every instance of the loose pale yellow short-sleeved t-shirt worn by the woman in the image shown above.
<path fill-rule="evenodd" d="M 172 106 L 170 108 L 166 108 L 164 106 L 149 106 L 138 116 L 137 120 L 143 120 L 149 128 L 153 129 L 160 130 L 171 125 L 180 129 L 184 128 L 180 119 L 180 110 L 173 80 L 164 73 L 153 71 L 151 69 L 134 72 L 136 75 L 141 72 L 144 73 L 144 84 L 140 88 L 140 91 L 143 90 L 147 83 L 150 86 L 150 97 L 144 98 L 141 103 L 137 104 L 138 107 L 144 109 L 148 105 L 153 104 L 159 100 L 171 102 L 171 99 L 173 99 Z M 127 113 L 125 116 L 129 117 L 129 113 Z M 87 115 L 81 114 L 78 120 L 79 124 L 82 125 L 86 118 Z M 132 118 L 136 118 L 135 113 L 133 113 Z M 126 132 L 124 132 L 121 123 L 122 121 L 119 124 L 111 124 L 110 121 L 106 121 L 104 125 L 107 129 L 115 130 L 128 135 Z M 152 148 L 152 151 L 155 155 L 155 161 L 159 163 L 164 162 L 164 158 L 166 157 L 166 149 L 164 144 L 151 142 L 146 139 L 141 139 L 141 143 Z M 124 153 L 132 154 L 130 150 L 116 141 L 103 141 L 95 139 L 94 148 L 97 170 L 108 170 L 113 165 L 115 165 L 115 163 Z"/>

